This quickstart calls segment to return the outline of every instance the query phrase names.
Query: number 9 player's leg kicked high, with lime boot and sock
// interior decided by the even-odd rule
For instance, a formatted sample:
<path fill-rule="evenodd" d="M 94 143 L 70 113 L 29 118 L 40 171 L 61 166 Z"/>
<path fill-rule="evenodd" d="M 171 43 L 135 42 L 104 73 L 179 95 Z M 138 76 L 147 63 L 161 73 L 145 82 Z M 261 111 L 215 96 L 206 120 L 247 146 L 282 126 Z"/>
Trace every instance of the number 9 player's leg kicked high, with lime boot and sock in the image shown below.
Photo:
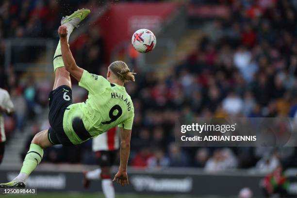
<path fill-rule="evenodd" d="M 67 27 L 67 40 L 69 40 L 70 34 L 78 24 L 90 14 L 89 9 L 81 9 L 75 11 L 72 15 L 63 17 L 61 20 L 61 25 Z M 71 88 L 70 74 L 66 71 L 63 63 L 61 44 L 58 43 L 57 49 L 54 54 L 53 66 L 55 72 L 55 82 L 53 85 L 53 90 L 61 85 L 67 85 Z"/>

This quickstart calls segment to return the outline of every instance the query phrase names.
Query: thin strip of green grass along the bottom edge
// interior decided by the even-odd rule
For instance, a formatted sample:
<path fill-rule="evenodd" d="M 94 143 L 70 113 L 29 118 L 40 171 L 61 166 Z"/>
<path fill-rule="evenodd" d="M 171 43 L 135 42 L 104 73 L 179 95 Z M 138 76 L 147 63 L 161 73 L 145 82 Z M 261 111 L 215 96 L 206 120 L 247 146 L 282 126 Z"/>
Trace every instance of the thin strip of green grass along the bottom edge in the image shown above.
<path fill-rule="evenodd" d="M 102 194 L 79 194 L 79 193 L 38 193 L 37 195 L 8 195 L 7 198 L 104 198 Z M 162 195 L 116 195 L 116 198 L 202 198 L 192 196 L 162 196 Z M 205 197 L 205 198 L 218 198 L 218 197 Z"/>

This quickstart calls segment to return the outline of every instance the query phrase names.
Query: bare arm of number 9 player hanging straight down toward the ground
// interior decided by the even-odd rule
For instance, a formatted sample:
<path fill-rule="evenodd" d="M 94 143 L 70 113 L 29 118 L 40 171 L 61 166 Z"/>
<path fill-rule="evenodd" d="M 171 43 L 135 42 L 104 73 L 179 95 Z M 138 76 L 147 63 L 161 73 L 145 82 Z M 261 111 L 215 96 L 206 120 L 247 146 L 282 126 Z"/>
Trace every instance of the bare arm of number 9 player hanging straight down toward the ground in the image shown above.
<path fill-rule="evenodd" d="M 127 165 L 130 154 L 130 140 L 131 140 L 131 130 L 121 128 L 121 148 L 120 148 L 120 166 L 115 174 L 113 181 L 117 181 L 121 186 L 129 185 L 128 175 L 127 175 Z"/>

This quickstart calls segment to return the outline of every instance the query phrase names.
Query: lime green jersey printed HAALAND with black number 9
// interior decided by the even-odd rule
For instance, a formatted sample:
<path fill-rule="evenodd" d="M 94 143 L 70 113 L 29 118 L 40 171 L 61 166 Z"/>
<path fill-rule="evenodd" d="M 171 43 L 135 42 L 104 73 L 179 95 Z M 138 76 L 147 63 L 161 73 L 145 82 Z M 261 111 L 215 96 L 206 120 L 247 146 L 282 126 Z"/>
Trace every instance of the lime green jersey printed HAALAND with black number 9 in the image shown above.
<path fill-rule="evenodd" d="M 72 121 L 79 117 L 92 137 L 118 126 L 132 129 L 134 107 L 125 87 L 112 84 L 104 77 L 90 74 L 84 70 L 79 85 L 89 91 L 85 102 L 71 104 L 67 107 L 63 128 L 73 144 L 83 141 L 74 132 Z"/>

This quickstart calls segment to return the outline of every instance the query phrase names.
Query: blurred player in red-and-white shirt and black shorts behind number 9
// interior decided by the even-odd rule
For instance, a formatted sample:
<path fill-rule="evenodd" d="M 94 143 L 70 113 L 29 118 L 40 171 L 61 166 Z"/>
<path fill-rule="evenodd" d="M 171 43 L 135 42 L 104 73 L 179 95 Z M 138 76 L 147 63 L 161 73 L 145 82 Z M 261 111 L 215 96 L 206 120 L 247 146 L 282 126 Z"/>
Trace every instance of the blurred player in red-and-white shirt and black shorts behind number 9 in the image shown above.
<path fill-rule="evenodd" d="M 93 139 L 93 151 L 100 168 L 85 172 L 82 184 L 88 188 L 91 180 L 102 180 L 101 186 L 105 198 L 115 198 L 115 188 L 110 174 L 110 167 L 115 165 L 117 149 L 119 148 L 119 135 L 116 128 L 100 134 Z"/>

